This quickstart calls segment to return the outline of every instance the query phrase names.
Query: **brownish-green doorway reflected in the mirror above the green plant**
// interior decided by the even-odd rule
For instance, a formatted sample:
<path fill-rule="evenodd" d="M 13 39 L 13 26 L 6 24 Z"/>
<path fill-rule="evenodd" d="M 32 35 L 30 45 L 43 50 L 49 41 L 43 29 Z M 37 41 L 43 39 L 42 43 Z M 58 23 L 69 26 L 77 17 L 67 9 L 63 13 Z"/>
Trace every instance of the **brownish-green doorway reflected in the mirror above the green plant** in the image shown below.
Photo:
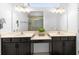
<path fill-rule="evenodd" d="M 38 28 L 43 27 L 43 12 L 35 11 L 29 14 L 29 31 L 36 31 Z"/>

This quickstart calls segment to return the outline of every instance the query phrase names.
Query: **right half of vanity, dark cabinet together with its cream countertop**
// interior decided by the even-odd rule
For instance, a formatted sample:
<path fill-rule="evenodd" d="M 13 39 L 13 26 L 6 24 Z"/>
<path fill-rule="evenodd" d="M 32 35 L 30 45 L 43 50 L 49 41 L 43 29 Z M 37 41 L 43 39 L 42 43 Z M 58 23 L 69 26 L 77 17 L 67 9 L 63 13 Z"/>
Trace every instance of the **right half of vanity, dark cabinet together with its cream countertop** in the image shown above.
<path fill-rule="evenodd" d="M 67 32 L 49 32 L 52 55 L 76 55 L 76 35 Z"/>

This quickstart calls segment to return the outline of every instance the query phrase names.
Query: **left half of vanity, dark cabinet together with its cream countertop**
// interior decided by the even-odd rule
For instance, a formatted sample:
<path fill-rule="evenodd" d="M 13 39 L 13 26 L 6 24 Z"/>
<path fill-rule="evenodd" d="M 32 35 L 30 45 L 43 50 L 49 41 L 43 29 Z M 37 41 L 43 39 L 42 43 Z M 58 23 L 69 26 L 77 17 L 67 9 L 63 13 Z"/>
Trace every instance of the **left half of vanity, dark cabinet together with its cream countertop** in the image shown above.
<path fill-rule="evenodd" d="M 11 35 L 12 34 L 12 35 Z M 2 55 L 30 55 L 31 37 L 33 32 L 20 32 L 2 34 L 1 54 Z"/>

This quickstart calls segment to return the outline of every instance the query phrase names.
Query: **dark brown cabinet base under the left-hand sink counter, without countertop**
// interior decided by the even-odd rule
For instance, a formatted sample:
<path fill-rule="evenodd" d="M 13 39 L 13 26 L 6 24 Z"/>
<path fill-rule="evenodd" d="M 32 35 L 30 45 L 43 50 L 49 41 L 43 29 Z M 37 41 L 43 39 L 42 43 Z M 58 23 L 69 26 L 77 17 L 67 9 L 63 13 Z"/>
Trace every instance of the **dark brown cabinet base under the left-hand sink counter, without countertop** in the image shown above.
<path fill-rule="evenodd" d="M 30 55 L 30 38 L 2 38 L 2 55 Z"/>

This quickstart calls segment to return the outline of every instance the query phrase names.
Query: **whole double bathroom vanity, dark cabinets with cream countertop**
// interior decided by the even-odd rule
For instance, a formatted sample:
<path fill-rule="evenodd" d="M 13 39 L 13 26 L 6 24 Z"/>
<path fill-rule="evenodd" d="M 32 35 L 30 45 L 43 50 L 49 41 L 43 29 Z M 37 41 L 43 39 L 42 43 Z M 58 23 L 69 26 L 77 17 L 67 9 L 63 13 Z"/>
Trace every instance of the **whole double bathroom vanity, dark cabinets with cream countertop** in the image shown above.
<path fill-rule="evenodd" d="M 2 55 L 34 54 L 34 43 L 49 43 L 50 55 L 76 55 L 76 34 L 49 31 L 39 36 L 36 31 L 1 34 Z"/>

